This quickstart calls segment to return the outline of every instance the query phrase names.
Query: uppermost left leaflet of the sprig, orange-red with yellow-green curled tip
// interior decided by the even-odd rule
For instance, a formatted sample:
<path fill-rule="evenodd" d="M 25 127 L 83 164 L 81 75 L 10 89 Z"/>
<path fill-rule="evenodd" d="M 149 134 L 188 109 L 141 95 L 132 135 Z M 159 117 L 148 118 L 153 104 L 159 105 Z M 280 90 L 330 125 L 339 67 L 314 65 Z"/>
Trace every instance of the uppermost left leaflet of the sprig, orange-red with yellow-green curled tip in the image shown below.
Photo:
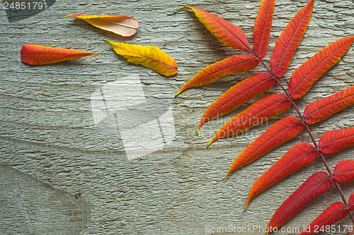
<path fill-rule="evenodd" d="M 207 30 L 209 30 L 212 35 L 219 40 L 219 42 L 222 42 L 228 47 L 233 47 L 235 49 L 252 53 L 252 49 L 249 46 L 249 41 L 247 41 L 246 35 L 235 25 L 229 23 L 227 20 L 213 15 L 212 13 L 203 11 L 193 6 L 183 6 L 183 8 L 178 9 L 175 12 L 186 9 L 193 10 L 199 21 L 205 25 L 205 28 L 207 28 Z"/>

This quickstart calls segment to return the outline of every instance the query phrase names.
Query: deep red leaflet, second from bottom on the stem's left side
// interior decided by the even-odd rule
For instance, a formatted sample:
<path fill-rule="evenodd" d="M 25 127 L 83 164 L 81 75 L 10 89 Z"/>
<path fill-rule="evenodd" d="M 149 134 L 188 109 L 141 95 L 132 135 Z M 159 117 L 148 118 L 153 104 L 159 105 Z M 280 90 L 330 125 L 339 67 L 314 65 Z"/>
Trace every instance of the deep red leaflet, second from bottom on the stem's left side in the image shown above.
<path fill-rule="evenodd" d="M 302 183 L 297 190 L 275 211 L 268 224 L 268 229 L 273 231 L 287 222 L 297 212 L 315 198 L 329 191 L 333 185 L 333 179 L 325 172 L 316 172 Z M 268 233 L 267 233 L 268 234 Z"/>

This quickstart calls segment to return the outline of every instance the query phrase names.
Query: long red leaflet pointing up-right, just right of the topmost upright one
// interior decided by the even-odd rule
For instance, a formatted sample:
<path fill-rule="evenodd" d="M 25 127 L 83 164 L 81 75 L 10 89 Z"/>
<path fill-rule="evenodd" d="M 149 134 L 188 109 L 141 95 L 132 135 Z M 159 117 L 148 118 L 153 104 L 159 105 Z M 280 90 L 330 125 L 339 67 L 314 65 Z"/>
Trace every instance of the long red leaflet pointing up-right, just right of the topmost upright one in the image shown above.
<path fill-rule="evenodd" d="M 273 54 L 270 56 L 270 68 L 275 77 L 280 78 L 287 71 L 292 56 L 299 47 L 307 25 L 309 25 L 312 8 L 314 8 L 314 0 L 309 1 L 306 6 L 300 9 L 275 42 Z"/>

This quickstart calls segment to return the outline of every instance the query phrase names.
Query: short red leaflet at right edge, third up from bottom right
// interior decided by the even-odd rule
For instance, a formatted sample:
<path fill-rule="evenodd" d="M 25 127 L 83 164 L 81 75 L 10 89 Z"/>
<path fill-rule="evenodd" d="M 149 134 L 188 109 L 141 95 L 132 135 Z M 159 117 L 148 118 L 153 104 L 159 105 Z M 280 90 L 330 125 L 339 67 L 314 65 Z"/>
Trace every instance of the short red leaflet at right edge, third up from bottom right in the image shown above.
<path fill-rule="evenodd" d="M 329 154 L 351 145 L 354 145 L 354 127 L 324 133 L 319 140 L 319 151 Z"/>

